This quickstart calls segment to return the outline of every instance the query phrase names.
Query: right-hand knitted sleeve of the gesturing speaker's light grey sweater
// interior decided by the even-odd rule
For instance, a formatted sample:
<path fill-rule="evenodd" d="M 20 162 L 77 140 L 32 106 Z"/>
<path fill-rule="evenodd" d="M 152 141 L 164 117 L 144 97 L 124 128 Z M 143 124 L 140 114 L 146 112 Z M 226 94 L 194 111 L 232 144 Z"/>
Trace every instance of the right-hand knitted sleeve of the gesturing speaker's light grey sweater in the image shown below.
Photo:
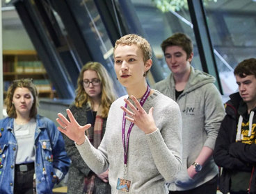
<path fill-rule="evenodd" d="M 174 182 L 182 166 L 182 117 L 176 103 L 163 112 L 168 116 L 157 118 L 161 127 L 146 134 L 146 139 L 159 173 L 167 182 Z"/>

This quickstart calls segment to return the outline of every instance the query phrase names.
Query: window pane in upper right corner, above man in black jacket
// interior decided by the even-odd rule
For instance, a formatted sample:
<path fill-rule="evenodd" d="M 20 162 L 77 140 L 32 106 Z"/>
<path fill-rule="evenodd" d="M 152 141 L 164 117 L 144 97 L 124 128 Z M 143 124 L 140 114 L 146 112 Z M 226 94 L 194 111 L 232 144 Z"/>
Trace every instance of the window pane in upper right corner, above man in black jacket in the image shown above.
<path fill-rule="evenodd" d="M 256 2 L 252 0 L 205 2 L 209 33 L 225 95 L 237 91 L 233 74 L 237 64 L 255 58 L 255 10 Z"/>

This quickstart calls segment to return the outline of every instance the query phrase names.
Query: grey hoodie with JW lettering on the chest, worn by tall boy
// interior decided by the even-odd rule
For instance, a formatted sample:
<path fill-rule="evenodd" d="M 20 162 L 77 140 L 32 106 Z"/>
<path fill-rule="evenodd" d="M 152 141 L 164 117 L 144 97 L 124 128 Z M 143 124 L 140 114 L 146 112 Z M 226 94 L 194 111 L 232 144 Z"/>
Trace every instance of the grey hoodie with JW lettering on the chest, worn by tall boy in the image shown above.
<path fill-rule="evenodd" d="M 182 112 L 182 170 L 177 180 L 170 183 L 170 191 L 196 188 L 218 174 L 218 167 L 212 157 L 193 179 L 187 173 L 187 168 L 193 164 L 203 146 L 214 150 L 218 130 L 225 115 L 221 95 L 214 82 L 213 76 L 191 67 L 189 81 L 177 99 L 172 73 L 154 86 L 162 94 L 173 98 Z"/>

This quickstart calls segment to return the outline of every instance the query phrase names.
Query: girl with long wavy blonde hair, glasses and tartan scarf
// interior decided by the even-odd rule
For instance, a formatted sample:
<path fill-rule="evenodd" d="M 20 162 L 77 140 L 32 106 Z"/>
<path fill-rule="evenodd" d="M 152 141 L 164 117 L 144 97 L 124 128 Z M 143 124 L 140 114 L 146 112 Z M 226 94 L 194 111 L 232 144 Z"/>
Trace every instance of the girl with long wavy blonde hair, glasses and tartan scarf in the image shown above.
<path fill-rule="evenodd" d="M 99 62 L 86 63 L 77 79 L 76 98 L 70 105 L 70 111 L 80 125 L 91 123 L 86 136 L 95 148 L 98 148 L 105 133 L 106 118 L 111 103 L 115 100 L 112 80 Z M 74 141 L 64 135 L 67 155 L 72 160 L 70 166 L 67 193 L 111 193 L 109 170 L 95 174 L 81 158 Z"/>

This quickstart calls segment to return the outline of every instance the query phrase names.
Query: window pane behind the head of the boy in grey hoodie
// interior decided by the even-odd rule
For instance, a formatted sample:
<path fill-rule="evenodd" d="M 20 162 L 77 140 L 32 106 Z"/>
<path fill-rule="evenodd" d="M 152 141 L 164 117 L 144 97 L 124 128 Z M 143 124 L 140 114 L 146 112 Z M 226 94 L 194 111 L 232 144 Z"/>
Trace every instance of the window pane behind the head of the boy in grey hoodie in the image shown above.
<path fill-rule="evenodd" d="M 154 54 L 159 60 L 164 78 L 169 75 L 170 70 L 166 64 L 160 45 L 164 39 L 170 37 L 174 33 L 185 33 L 191 37 L 194 44 L 194 57 L 191 64 L 196 69 L 202 70 L 200 57 L 198 55 L 198 48 L 193 33 L 193 25 L 191 24 L 191 18 L 187 6 L 180 8 L 179 11 L 169 10 L 168 12 L 162 12 L 157 8 L 152 0 L 132 0 L 132 2 L 138 18 L 141 21 L 141 25 L 145 30 L 147 39 L 152 46 Z"/>

